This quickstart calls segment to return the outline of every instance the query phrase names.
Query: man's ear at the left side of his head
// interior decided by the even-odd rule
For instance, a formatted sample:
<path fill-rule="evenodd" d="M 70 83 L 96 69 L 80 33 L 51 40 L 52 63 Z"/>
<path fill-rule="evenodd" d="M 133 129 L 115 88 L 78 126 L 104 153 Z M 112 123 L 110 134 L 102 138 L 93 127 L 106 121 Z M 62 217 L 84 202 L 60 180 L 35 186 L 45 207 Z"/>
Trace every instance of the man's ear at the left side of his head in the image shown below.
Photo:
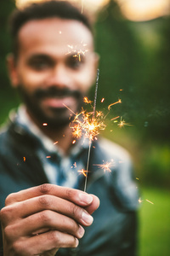
<path fill-rule="evenodd" d="M 9 53 L 6 58 L 7 67 L 8 67 L 8 76 L 13 87 L 17 87 L 19 84 L 18 73 L 17 73 L 17 64 L 14 60 L 14 55 Z"/>

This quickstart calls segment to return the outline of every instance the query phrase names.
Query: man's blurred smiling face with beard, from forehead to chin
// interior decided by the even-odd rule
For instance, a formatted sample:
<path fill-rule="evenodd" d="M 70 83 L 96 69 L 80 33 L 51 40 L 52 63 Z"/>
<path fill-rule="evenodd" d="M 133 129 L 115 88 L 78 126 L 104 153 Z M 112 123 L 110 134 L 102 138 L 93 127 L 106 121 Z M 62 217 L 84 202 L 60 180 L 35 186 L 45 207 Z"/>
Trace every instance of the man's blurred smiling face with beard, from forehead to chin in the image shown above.
<path fill-rule="evenodd" d="M 48 125 L 67 124 L 94 83 L 97 60 L 91 32 L 77 20 L 52 18 L 27 22 L 18 38 L 11 80 L 28 113 Z"/>

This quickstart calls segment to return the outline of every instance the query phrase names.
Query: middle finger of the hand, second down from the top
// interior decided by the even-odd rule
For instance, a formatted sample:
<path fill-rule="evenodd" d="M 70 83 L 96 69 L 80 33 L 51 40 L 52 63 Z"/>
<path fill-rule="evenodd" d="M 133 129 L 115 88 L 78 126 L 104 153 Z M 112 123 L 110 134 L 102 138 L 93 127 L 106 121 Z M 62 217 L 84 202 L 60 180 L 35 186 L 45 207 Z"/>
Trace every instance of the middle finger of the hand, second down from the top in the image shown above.
<path fill-rule="evenodd" d="M 71 201 L 66 201 L 54 195 L 41 195 L 26 201 L 14 203 L 2 209 L 6 221 L 14 218 L 26 218 L 36 212 L 50 210 L 73 218 L 77 223 L 88 226 L 93 223 L 93 217 L 82 207 Z M 3 218 L 4 219 L 4 218 Z"/>

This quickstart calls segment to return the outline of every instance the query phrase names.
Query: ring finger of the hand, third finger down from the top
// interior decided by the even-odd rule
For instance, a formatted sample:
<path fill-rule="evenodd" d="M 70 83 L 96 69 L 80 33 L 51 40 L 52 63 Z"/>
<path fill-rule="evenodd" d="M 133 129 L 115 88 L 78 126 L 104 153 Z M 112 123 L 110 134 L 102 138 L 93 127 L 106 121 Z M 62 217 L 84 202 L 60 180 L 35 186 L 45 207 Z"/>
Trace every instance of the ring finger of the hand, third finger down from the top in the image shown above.
<path fill-rule="evenodd" d="M 6 228 L 5 235 L 14 240 L 15 237 L 35 236 L 49 230 L 59 230 L 78 239 L 84 235 L 84 229 L 76 221 L 48 210 L 38 212 L 27 218 L 20 219 L 20 222 L 11 224 Z"/>

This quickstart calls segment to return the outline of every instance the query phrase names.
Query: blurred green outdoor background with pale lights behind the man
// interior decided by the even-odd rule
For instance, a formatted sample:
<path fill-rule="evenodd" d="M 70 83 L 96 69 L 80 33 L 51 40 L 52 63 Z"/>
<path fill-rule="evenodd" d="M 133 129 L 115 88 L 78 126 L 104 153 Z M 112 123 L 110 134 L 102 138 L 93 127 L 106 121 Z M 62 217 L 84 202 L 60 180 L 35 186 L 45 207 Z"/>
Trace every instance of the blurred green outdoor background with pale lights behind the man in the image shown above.
<path fill-rule="evenodd" d="M 10 88 L 5 63 L 10 51 L 8 14 L 15 4 L 20 8 L 26 2 L 0 3 L 1 125 L 20 103 Z M 133 158 L 141 192 L 139 256 L 170 255 L 170 1 L 74 2 L 95 21 L 100 55 L 97 110 L 107 114 L 111 103 L 122 101 L 111 107 L 103 134 L 127 148 Z M 111 120 L 116 116 L 120 118 Z"/>

